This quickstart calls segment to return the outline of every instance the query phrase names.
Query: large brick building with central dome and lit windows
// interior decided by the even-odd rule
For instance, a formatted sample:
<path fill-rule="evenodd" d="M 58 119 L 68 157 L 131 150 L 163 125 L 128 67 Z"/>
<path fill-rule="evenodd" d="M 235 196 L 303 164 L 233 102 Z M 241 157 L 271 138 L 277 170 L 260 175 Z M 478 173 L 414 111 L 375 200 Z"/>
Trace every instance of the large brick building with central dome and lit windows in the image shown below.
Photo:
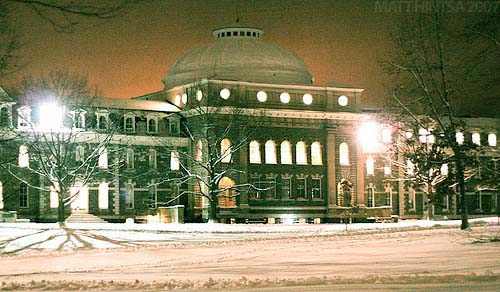
<path fill-rule="evenodd" d="M 203 143 L 211 143 L 198 139 L 195 130 L 193 135 L 181 130 L 181 124 L 201 119 L 195 107 L 203 105 L 216 111 L 211 112 L 218 116 L 213 131 L 224 136 L 220 141 L 227 143 L 226 147 L 241 138 L 241 131 L 227 130 L 234 115 L 228 109 L 237 108 L 246 126 L 256 128 L 248 132 L 244 147 L 230 159 L 222 159 L 238 170 L 221 180 L 222 188 L 229 186 L 224 194 L 231 186 L 252 186 L 221 196 L 217 212 L 224 222 L 339 222 L 346 217 L 424 216 L 424 192 L 403 179 L 407 174 L 404 166 L 391 163 L 384 152 L 384 144 L 398 139 L 394 128 L 367 128 L 376 115 L 363 111 L 362 88 L 313 84 L 304 62 L 292 52 L 265 42 L 261 29 L 237 23 L 212 34 L 211 43 L 178 58 L 163 80 L 164 90 L 131 100 L 101 99 L 80 109 L 94 120 L 83 124 L 84 131 L 99 134 L 101 122 L 114 123 L 117 131 L 109 147 L 119 149 L 113 155 L 125 157 L 125 163 L 98 174 L 84 192 L 85 198 L 75 200 L 71 208 L 123 221 L 155 214 L 158 206 L 182 204 L 186 221 L 204 220 L 209 204 L 199 196 L 203 187 L 161 180 L 165 173 L 183 171 L 176 153 L 190 152 L 194 157 L 197 151 L 205 151 Z M 5 95 L 0 103 L 4 128 L 22 131 L 19 117 L 29 114 L 29 106 L 16 104 Z M 478 161 L 484 160 L 498 173 L 496 135 L 500 120 L 471 119 L 469 124 L 467 134 L 476 137 L 473 139 L 479 135 L 479 144 L 485 149 L 478 154 Z M 368 132 L 363 132 L 366 129 Z M 159 138 L 163 140 L 159 142 Z M 364 149 L 366 139 L 372 139 L 369 142 L 376 144 L 377 150 Z M 24 151 L 22 146 L 16 144 L 19 151 Z M 204 155 L 200 154 L 200 160 Z M 195 170 L 193 163 L 182 162 Z M 49 191 L 29 188 L 8 176 L 5 172 L 0 176 L 4 210 L 15 210 L 20 217 L 35 221 L 55 218 Z M 37 177 L 30 179 L 33 184 L 43 184 Z M 498 212 L 498 192 L 470 186 L 469 213 Z M 436 206 L 436 214 L 454 217 L 458 208 L 456 194 L 451 194 Z"/>

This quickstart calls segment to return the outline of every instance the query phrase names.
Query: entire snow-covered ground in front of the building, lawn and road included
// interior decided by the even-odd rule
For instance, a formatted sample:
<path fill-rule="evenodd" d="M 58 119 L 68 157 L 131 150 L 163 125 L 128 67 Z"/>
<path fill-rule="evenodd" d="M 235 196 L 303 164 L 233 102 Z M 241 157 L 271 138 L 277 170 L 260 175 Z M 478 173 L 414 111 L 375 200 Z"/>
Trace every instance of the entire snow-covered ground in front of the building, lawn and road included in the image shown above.
<path fill-rule="evenodd" d="M 0 224 L 0 290 L 495 291 L 500 226 L 471 222 Z"/>

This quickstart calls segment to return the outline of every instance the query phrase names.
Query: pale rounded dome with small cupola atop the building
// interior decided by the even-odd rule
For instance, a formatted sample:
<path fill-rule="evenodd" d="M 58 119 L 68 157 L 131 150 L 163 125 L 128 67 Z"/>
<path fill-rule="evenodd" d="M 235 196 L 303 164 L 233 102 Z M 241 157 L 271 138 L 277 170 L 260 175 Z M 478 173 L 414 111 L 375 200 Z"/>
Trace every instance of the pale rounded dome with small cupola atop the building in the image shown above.
<path fill-rule="evenodd" d="M 264 42 L 263 31 L 237 23 L 213 31 L 215 40 L 189 51 L 172 65 L 165 89 L 200 79 L 274 84 L 312 84 L 304 62 L 292 52 Z"/>

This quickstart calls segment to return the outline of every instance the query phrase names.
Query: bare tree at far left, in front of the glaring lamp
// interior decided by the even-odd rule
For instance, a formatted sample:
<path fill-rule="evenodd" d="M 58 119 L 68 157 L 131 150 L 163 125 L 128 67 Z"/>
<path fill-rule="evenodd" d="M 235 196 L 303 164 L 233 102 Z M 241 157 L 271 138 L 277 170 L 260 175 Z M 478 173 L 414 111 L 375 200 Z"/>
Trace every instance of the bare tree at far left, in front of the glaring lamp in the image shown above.
<path fill-rule="evenodd" d="M 57 203 L 52 198 L 51 206 L 57 205 L 58 221 L 63 222 L 65 208 L 81 187 L 92 182 L 99 171 L 106 171 L 106 146 L 113 128 L 107 122 L 96 132 L 85 131 L 84 112 L 94 107 L 96 95 L 78 75 L 56 72 L 38 80 L 27 79 L 21 92 L 15 143 L 3 147 L 12 159 L 2 168 L 31 188 L 56 194 Z M 33 176 L 40 181 L 30 180 Z"/>

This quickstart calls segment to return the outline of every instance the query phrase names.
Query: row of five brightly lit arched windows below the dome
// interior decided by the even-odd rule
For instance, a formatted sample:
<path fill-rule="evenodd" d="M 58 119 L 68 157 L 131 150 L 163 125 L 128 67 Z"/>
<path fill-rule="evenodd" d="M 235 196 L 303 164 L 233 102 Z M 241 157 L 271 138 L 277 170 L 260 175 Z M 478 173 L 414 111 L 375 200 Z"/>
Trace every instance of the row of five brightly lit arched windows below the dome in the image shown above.
<path fill-rule="evenodd" d="M 293 164 L 292 159 L 292 144 L 285 140 L 280 144 L 280 163 L 281 164 Z M 262 163 L 261 157 L 261 147 L 259 142 L 253 140 L 249 145 L 249 156 L 250 163 L 259 164 Z M 311 164 L 312 165 L 322 165 L 322 154 L 321 154 L 321 143 L 313 142 L 311 144 Z M 268 140 L 264 146 L 264 161 L 266 164 L 277 164 L 277 151 L 276 142 L 273 140 Z M 295 144 L 295 163 L 298 165 L 307 165 L 307 146 L 304 141 L 299 141 Z"/>

